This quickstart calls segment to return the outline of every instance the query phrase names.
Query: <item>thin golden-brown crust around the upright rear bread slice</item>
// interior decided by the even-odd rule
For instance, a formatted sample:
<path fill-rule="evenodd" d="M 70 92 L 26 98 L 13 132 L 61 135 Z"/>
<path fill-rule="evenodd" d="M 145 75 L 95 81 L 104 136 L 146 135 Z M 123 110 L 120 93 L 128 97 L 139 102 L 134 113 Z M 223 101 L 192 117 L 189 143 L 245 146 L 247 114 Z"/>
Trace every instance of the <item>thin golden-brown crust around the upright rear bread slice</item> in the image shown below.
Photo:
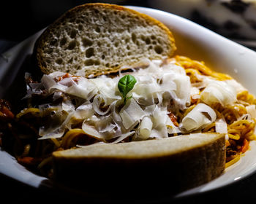
<path fill-rule="evenodd" d="M 56 26 L 59 26 L 65 19 L 74 15 L 75 13 L 78 13 L 78 12 L 82 11 L 83 9 L 113 9 L 113 10 L 121 11 L 121 12 L 123 12 L 123 11 L 124 12 L 129 12 L 129 13 L 134 14 L 135 16 L 142 17 L 144 20 L 146 20 L 148 25 L 158 26 L 159 28 L 162 29 L 163 33 L 165 33 L 165 35 L 167 36 L 167 39 L 170 42 L 171 49 L 168 51 L 168 54 L 165 57 L 172 56 L 173 52 L 176 50 L 176 45 L 175 45 L 175 40 L 173 38 L 173 34 L 170 32 L 170 30 L 163 23 L 159 22 L 158 20 L 154 19 L 153 17 L 150 17 L 148 15 L 137 12 L 135 10 L 128 9 L 126 7 L 118 6 L 118 5 L 115 5 L 115 4 L 104 4 L 104 3 L 83 4 L 83 5 L 80 5 L 78 7 L 74 7 L 72 9 L 69 9 L 69 11 L 64 13 L 64 15 L 59 17 L 59 19 L 57 19 L 54 23 L 52 23 L 50 26 L 48 26 L 48 28 L 42 33 L 42 35 L 37 40 L 34 50 L 36 52 L 37 65 L 41 69 L 42 73 L 50 74 L 50 72 L 52 72 L 52 70 L 50 70 L 47 67 L 47 63 L 45 62 L 45 58 L 43 57 L 44 56 L 43 47 L 45 47 L 45 42 L 49 41 L 48 36 L 50 36 L 50 33 L 53 32 L 53 28 L 56 28 Z M 88 71 L 88 73 L 86 73 L 85 76 L 89 76 L 91 74 L 94 75 L 94 76 L 101 75 L 101 74 L 108 74 L 108 73 L 111 73 L 111 72 L 118 71 L 119 68 L 121 68 L 121 66 L 120 67 L 114 67 L 114 68 L 108 68 L 108 70 L 104 71 L 104 73 L 102 73 L 102 71 L 100 71 L 100 70 L 99 70 L 98 73 L 90 73 L 90 71 Z"/>

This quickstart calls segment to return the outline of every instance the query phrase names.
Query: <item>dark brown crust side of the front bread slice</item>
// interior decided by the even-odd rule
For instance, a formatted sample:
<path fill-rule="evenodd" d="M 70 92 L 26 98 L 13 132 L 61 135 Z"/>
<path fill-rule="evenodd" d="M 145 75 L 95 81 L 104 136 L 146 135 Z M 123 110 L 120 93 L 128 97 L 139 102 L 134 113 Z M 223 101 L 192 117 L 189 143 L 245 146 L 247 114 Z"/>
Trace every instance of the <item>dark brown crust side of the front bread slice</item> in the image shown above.
<path fill-rule="evenodd" d="M 219 135 L 207 144 L 185 148 L 175 154 L 151 157 L 75 158 L 55 152 L 53 167 L 55 181 L 79 189 L 89 184 L 90 189 L 95 190 L 100 182 L 102 187 L 113 184 L 122 190 L 135 184 L 136 188 L 145 191 L 167 187 L 168 192 L 176 194 L 222 174 L 225 170 L 225 136 Z"/>

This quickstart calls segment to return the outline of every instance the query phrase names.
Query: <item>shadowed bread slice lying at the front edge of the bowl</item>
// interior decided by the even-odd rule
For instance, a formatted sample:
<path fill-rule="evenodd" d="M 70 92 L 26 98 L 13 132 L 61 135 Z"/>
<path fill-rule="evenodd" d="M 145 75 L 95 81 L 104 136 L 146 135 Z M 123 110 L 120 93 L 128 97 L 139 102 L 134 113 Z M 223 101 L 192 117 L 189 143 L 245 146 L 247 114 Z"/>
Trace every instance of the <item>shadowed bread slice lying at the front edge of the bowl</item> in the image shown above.
<path fill-rule="evenodd" d="M 130 184 L 140 190 L 158 185 L 180 192 L 217 178 L 224 169 L 225 136 L 214 133 L 53 152 L 56 181 L 90 189 L 94 184 L 104 190 L 111 184 L 121 189 Z"/>

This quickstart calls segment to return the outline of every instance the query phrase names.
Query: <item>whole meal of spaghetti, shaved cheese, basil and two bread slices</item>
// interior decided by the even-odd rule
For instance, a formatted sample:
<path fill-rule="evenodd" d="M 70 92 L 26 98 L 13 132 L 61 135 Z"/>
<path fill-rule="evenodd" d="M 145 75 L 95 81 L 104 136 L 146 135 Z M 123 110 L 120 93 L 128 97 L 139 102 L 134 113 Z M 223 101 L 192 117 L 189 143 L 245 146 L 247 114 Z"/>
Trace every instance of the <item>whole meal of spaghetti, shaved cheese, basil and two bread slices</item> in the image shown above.
<path fill-rule="evenodd" d="M 2 148 L 72 187 L 179 192 L 217 178 L 255 139 L 255 97 L 175 50 L 165 25 L 132 9 L 69 10 L 37 39 L 26 105 L 0 101 Z"/>

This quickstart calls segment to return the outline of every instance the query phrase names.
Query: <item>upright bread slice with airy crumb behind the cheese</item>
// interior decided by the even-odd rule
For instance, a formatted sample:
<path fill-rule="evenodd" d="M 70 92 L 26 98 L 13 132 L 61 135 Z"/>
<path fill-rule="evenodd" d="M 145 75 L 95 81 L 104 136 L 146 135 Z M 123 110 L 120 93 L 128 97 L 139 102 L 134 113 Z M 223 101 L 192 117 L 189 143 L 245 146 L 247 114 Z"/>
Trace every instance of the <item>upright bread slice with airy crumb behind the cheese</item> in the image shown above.
<path fill-rule="evenodd" d="M 97 76 L 134 66 L 144 58 L 170 57 L 169 29 L 148 15 L 114 4 L 70 9 L 39 37 L 35 52 L 42 72 Z"/>

